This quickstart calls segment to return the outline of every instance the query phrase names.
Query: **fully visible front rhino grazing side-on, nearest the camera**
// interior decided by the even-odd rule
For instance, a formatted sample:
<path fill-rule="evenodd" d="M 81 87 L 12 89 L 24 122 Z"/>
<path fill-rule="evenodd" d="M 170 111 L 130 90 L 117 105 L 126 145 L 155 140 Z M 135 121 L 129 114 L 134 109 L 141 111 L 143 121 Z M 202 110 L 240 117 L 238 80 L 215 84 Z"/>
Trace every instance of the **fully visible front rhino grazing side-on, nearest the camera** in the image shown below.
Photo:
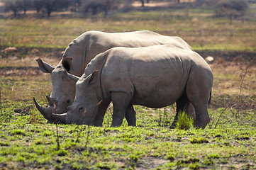
<path fill-rule="evenodd" d="M 120 126 L 125 116 L 129 125 L 135 125 L 133 103 L 162 108 L 176 102 L 179 111 L 184 111 L 191 102 L 195 127 L 205 128 L 210 121 L 207 107 L 213 74 L 191 50 L 171 45 L 114 47 L 91 60 L 82 77 L 70 78 L 77 81 L 74 103 L 67 113 L 43 113 L 48 120 L 101 125 L 99 117 L 103 118 L 112 101 L 112 126 Z"/>

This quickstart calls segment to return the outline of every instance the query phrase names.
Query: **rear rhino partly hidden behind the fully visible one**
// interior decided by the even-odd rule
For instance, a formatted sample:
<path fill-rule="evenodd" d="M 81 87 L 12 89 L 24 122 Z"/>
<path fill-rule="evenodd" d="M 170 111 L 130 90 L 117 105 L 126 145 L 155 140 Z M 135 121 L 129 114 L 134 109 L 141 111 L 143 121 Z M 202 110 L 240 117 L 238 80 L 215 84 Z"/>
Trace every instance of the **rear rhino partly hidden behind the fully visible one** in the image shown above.
<path fill-rule="evenodd" d="M 87 64 L 101 52 L 119 46 L 144 47 L 164 44 L 192 50 L 182 38 L 160 35 L 149 30 L 129 33 L 104 33 L 100 31 L 83 33 L 69 43 L 62 60 L 56 67 L 52 67 L 40 59 L 37 60 L 41 71 L 51 74 L 52 93 L 50 97 L 47 96 L 48 108 L 41 107 L 34 100 L 35 106 L 42 114 L 67 112 L 67 107 L 73 103 L 75 95 L 75 83 L 67 77 L 67 72 L 78 77 L 82 76 Z M 193 112 L 193 108 L 191 112 Z"/>

